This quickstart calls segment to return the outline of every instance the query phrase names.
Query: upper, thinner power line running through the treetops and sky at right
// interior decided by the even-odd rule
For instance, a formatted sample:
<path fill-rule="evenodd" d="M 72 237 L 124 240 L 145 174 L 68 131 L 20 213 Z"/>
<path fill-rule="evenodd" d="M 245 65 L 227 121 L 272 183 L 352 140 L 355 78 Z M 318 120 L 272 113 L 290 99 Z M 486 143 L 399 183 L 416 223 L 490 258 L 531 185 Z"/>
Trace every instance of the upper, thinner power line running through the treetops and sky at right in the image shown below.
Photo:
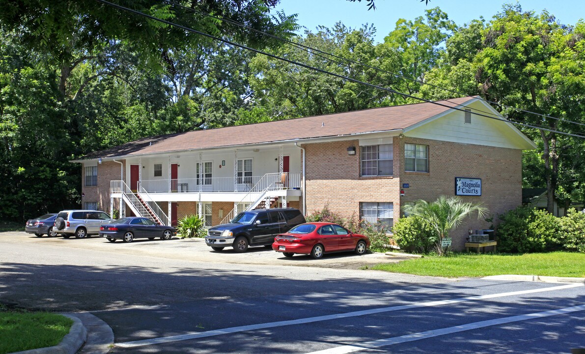
<path fill-rule="evenodd" d="M 345 57 L 337 56 L 336 54 L 327 53 L 326 51 L 322 51 L 322 50 L 315 49 L 315 48 L 312 48 L 312 47 L 309 47 L 309 46 L 305 46 L 304 44 L 297 43 L 297 42 L 293 42 L 291 40 L 284 39 L 282 37 L 278 37 L 278 36 L 275 36 L 275 35 L 271 35 L 270 33 L 263 32 L 261 30 L 252 28 L 250 26 L 247 26 L 247 25 L 245 25 L 243 23 L 237 22 L 237 21 L 232 20 L 232 19 L 221 18 L 221 17 L 218 17 L 218 16 L 211 15 L 210 13 L 206 13 L 206 12 L 198 11 L 196 9 L 188 8 L 187 6 L 183 6 L 183 5 L 178 4 L 177 2 L 174 2 L 174 1 L 171 1 L 171 0 L 163 0 L 163 1 L 167 2 L 168 4 L 173 4 L 173 5 L 176 5 L 176 6 L 180 7 L 180 8 L 187 9 L 189 11 L 192 11 L 192 12 L 195 12 L 195 13 L 199 13 L 201 15 L 208 16 L 208 17 L 213 18 L 213 19 L 217 19 L 217 20 L 221 20 L 221 21 L 224 21 L 224 22 L 232 23 L 233 25 L 236 25 L 236 26 L 239 26 L 239 27 L 242 27 L 242 28 L 245 28 L 245 29 L 252 30 L 252 31 L 254 31 L 256 33 L 260 33 L 262 35 L 269 36 L 269 37 L 271 37 L 273 39 L 280 40 L 281 42 L 292 44 L 293 46 L 297 47 L 298 49 L 301 49 L 301 47 L 303 47 L 303 48 L 305 48 L 305 51 L 307 51 L 308 53 L 309 53 L 309 51 L 315 51 L 317 53 L 325 54 L 325 55 L 328 55 L 328 56 L 331 56 L 331 57 L 335 57 L 337 59 L 341 59 L 341 60 L 348 61 L 349 63 L 358 64 L 360 66 L 364 66 L 364 67 L 367 67 L 367 68 L 371 68 L 373 70 L 380 71 L 381 73 L 391 74 L 391 75 L 394 75 L 396 77 L 404 78 L 405 80 L 410 80 L 410 81 L 414 81 L 414 82 L 420 83 L 422 85 L 428 85 L 428 86 L 431 86 L 431 87 L 434 87 L 434 88 L 438 88 L 439 90 L 451 92 L 453 94 L 457 94 L 457 95 L 460 95 L 460 96 L 465 96 L 466 95 L 466 94 L 463 94 L 462 92 L 458 92 L 458 91 L 455 91 L 455 90 L 450 90 L 449 88 L 444 88 L 444 87 L 440 87 L 438 85 L 433 85 L 433 84 L 427 83 L 425 81 L 418 80 L 416 78 L 411 78 L 411 77 L 407 77 L 407 76 L 404 76 L 404 75 L 401 75 L 401 74 L 398 74 L 398 73 L 393 73 L 392 71 L 387 71 L 387 70 L 383 70 L 383 69 L 378 68 L 378 67 L 370 66 L 369 64 L 364 64 L 364 63 L 362 63 L 360 61 L 355 61 L 355 60 L 352 60 L 352 59 L 347 59 Z M 315 53 L 313 53 L 313 54 L 316 55 Z M 319 57 L 322 57 L 322 56 L 319 56 Z M 325 57 L 322 57 L 322 58 L 326 59 Z M 331 60 L 331 59 L 326 59 L 326 60 Z M 342 63 L 339 63 L 338 61 L 333 61 L 333 63 L 342 64 Z M 363 70 L 361 72 L 362 73 L 365 73 L 365 71 L 363 71 Z M 430 95 L 430 96 L 431 97 L 434 97 L 434 98 L 438 98 L 438 97 L 433 96 L 433 95 Z M 484 102 L 487 102 L 488 104 L 494 104 L 494 105 L 498 105 L 498 106 L 501 106 L 501 107 L 514 109 L 515 111 L 520 111 L 520 112 L 524 112 L 524 113 L 528 113 L 528 114 L 542 116 L 543 118 L 550 118 L 550 119 L 555 119 L 557 121 L 563 121 L 563 122 L 573 123 L 573 124 L 580 125 L 580 126 L 585 126 L 585 123 L 573 122 L 573 121 L 569 121 L 568 119 L 563 119 L 563 118 L 556 118 L 554 116 L 550 116 L 550 115 L 546 115 L 546 114 L 540 114 L 540 113 L 537 113 L 537 112 L 528 111 L 526 109 L 521 109 L 521 108 L 517 108 L 517 107 L 512 107 L 512 106 L 500 104 L 498 102 L 489 101 L 489 100 L 484 99 L 484 98 L 481 98 L 481 97 L 479 97 L 479 99 L 481 99 Z M 449 99 L 443 99 L 442 101 L 450 102 Z M 453 103 L 453 102 L 451 102 L 451 103 Z M 482 113 L 491 114 L 491 112 L 483 111 L 481 109 L 477 109 L 477 108 L 472 108 L 472 109 L 474 109 L 476 111 L 479 111 L 479 112 L 482 112 Z M 537 128 L 537 129 L 540 129 L 540 128 Z"/>

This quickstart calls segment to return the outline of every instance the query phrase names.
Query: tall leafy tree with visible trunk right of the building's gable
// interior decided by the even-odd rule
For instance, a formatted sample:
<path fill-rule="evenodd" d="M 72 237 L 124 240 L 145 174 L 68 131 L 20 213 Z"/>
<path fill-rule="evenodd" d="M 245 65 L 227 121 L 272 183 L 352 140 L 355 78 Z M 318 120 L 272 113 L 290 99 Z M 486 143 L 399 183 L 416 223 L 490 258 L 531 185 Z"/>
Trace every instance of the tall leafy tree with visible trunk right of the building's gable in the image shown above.
<path fill-rule="evenodd" d="M 561 25 L 546 11 L 536 14 L 522 11 L 520 5 L 504 5 L 487 25 L 475 21 L 457 31 L 447 42 L 448 63 L 427 76 L 433 84 L 479 93 L 496 102 L 511 121 L 541 128 L 522 130 L 542 148 L 549 212 L 562 174 L 559 152 L 572 141 L 556 131 L 583 134 L 568 121 L 585 122 L 584 28 L 583 22 Z M 422 90 L 446 95 L 433 87 Z"/>

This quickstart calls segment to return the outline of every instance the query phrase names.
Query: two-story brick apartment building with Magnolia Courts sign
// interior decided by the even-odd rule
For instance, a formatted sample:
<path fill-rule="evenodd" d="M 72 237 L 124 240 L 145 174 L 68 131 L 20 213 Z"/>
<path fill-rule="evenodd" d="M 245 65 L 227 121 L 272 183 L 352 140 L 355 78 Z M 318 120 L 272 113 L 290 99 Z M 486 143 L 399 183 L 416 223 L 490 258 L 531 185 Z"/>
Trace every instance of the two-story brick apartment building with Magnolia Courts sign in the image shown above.
<path fill-rule="evenodd" d="M 330 209 L 392 225 L 401 205 L 461 195 L 491 214 L 521 204 L 535 149 L 477 97 L 154 136 L 82 160 L 82 207 L 174 224 L 219 224 L 246 208 Z M 108 210 L 109 209 L 109 210 Z M 469 219 L 453 235 L 462 248 Z"/>

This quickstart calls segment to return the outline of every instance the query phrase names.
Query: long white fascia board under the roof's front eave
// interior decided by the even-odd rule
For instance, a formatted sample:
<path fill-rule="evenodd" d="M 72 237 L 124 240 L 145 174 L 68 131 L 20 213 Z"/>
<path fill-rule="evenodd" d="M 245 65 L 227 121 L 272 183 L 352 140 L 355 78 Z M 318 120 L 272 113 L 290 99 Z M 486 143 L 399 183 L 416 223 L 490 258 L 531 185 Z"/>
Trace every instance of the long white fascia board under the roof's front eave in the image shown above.
<path fill-rule="evenodd" d="M 337 135 L 337 136 L 324 136 L 319 138 L 307 138 L 307 139 L 288 139 L 288 140 L 278 140 L 276 142 L 265 142 L 265 143 L 256 143 L 256 144 L 242 144 L 242 145 L 225 145 L 225 146 L 214 146 L 214 147 L 204 147 L 202 149 L 181 149 L 181 150 L 168 150 L 164 152 L 157 152 L 157 153 L 142 153 L 142 154 L 130 154 L 130 155 L 122 155 L 122 156 L 110 156 L 110 157 L 102 157 L 102 161 L 112 161 L 112 160 L 121 160 L 121 159 L 132 159 L 137 157 L 145 157 L 145 156 L 161 156 L 161 155 L 168 155 L 168 154 L 176 154 L 176 153 L 185 153 L 185 152 L 203 152 L 203 151 L 213 151 L 213 150 L 233 150 L 233 149 L 256 149 L 259 146 L 271 146 L 271 145 L 283 145 L 283 144 L 294 144 L 294 143 L 326 143 L 326 142 L 338 142 L 343 140 L 355 140 L 359 139 L 361 136 L 368 136 L 371 138 L 378 138 L 378 136 L 382 137 L 390 137 L 390 136 L 398 136 L 402 133 L 402 129 L 391 129 L 391 130 L 381 130 L 377 132 L 366 132 L 366 133 L 356 133 L 356 134 L 348 134 L 348 135 Z M 92 161 L 97 159 L 88 159 L 88 160 L 70 160 L 69 162 L 77 162 L 77 163 L 84 163 L 85 161 Z"/>

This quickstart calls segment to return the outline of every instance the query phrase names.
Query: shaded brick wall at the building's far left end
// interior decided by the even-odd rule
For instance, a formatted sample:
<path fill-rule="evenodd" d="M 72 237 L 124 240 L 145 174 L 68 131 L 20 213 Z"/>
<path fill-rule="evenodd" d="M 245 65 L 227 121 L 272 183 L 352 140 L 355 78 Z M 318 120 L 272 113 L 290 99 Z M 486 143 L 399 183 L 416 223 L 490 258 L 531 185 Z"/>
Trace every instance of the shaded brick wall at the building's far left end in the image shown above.
<path fill-rule="evenodd" d="M 124 163 L 124 160 L 121 160 Z M 104 161 L 98 164 L 98 185 L 85 185 L 85 165 L 81 165 L 81 198 L 80 208 L 85 202 L 98 202 L 98 209 L 109 214 L 110 211 L 110 181 L 120 180 L 120 164 L 114 161 Z M 123 176 L 126 176 L 124 168 Z M 119 208 L 119 202 L 114 202 L 114 208 Z"/>

